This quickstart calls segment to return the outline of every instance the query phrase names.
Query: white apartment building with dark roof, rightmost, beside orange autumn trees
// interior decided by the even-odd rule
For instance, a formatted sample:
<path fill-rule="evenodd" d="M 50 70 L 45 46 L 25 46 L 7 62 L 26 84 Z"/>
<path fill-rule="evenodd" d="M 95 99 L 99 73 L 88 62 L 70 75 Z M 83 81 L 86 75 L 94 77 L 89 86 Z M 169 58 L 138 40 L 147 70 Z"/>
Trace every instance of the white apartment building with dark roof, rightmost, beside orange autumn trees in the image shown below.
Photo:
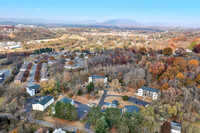
<path fill-rule="evenodd" d="M 151 97 L 153 100 L 157 100 L 160 95 L 160 90 L 142 86 L 138 89 L 139 96 L 148 96 Z"/>

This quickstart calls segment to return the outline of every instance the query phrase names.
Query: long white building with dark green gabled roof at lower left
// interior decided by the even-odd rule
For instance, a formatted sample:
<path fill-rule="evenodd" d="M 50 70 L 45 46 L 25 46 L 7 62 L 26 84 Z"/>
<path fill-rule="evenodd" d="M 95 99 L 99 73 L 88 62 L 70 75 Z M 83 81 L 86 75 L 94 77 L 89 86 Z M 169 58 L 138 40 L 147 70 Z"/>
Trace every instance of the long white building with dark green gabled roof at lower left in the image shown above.
<path fill-rule="evenodd" d="M 53 96 L 43 96 L 39 102 L 32 104 L 33 110 L 44 111 L 47 107 L 49 107 L 54 102 Z"/>

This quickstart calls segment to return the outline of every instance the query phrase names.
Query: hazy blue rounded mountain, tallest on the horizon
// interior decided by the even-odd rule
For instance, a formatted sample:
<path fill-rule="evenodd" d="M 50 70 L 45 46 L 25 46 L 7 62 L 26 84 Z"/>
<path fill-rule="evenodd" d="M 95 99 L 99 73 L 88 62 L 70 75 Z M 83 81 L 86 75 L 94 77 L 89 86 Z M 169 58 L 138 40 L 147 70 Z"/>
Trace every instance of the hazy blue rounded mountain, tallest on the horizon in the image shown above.
<path fill-rule="evenodd" d="M 109 26 L 144 26 L 144 24 L 139 23 L 135 20 L 129 20 L 129 19 L 112 19 L 108 21 L 104 21 L 101 24 L 103 25 L 109 25 Z"/>

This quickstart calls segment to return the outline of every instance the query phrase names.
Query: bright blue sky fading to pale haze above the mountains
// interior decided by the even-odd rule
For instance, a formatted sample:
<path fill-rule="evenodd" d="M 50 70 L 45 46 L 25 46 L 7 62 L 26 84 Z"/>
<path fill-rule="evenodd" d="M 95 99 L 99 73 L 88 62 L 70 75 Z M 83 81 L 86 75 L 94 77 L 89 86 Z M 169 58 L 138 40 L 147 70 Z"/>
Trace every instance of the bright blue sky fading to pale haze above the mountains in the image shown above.
<path fill-rule="evenodd" d="M 200 23 L 200 0 L 0 0 L 0 18 Z"/>

